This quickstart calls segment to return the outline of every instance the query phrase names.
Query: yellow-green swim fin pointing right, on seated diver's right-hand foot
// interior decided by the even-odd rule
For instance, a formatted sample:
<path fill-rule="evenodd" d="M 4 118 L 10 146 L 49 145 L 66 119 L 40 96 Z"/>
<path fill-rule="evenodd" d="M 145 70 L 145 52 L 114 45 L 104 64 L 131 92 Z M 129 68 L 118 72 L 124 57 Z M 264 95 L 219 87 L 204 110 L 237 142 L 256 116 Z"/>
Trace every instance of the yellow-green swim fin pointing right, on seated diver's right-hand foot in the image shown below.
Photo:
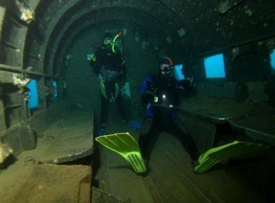
<path fill-rule="evenodd" d="M 269 146 L 260 143 L 234 141 L 202 153 L 198 159 L 199 165 L 195 166 L 194 171 L 196 173 L 205 173 L 216 163 L 228 158 L 249 156 L 249 154 L 253 154 L 256 151 L 268 148 Z"/>

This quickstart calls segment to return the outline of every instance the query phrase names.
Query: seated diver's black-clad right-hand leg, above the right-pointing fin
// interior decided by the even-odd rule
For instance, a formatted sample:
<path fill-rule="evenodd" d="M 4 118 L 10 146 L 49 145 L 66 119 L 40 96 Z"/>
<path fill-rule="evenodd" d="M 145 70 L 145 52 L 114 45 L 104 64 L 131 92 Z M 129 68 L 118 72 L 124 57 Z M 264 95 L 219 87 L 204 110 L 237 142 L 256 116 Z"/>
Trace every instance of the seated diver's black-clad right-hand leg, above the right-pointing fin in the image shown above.
<path fill-rule="evenodd" d="M 200 153 L 195 146 L 195 142 L 192 139 L 191 135 L 187 133 L 187 130 L 184 127 L 184 123 L 179 118 L 174 119 L 173 122 L 177 132 L 180 134 L 179 139 L 181 139 L 184 148 L 189 153 L 192 160 L 198 160 Z"/>

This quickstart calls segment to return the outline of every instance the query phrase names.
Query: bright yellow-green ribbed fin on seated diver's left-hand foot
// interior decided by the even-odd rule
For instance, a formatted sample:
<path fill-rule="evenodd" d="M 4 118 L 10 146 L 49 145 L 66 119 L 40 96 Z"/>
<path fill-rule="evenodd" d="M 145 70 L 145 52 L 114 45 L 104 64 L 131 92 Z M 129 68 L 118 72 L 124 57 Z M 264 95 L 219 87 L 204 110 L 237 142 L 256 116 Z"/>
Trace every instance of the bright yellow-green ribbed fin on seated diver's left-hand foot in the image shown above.
<path fill-rule="evenodd" d="M 137 174 L 146 172 L 144 160 L 140 153 L 140 146 L 129 133 L 114 133 L 96 137 L 96 141 L 103 144 L 119 155 L 123 156 L 131 164 Z"/>

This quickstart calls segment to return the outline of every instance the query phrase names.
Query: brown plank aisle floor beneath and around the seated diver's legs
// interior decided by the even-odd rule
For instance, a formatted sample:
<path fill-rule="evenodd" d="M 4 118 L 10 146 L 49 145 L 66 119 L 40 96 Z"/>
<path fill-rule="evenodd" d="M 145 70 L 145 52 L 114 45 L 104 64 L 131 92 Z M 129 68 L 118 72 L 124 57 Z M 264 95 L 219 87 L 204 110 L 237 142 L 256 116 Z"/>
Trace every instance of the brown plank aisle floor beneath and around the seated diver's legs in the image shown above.
<path fill-rule="evenodd" d="M 130 131 L 121 121 L 108 123 L 107 133 Z M 99 147 L 101 167 L 98 188 L 129 202 L 262 202 L 245 183 L 238 183 L 225 170 L 195 174 L 191 159 L 177 137 L 161 133 L 151 153 L 151 172 L 137 176 L 117 153 Z"/>

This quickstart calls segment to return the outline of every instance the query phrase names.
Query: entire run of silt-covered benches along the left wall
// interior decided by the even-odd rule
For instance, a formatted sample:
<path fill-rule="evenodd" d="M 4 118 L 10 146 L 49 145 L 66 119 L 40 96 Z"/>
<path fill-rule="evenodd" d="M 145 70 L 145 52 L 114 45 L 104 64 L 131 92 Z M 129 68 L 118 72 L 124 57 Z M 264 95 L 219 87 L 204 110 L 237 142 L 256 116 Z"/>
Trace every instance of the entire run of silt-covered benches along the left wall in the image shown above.
<path fill-rule="evenodd" d="M 66 112 L 0 173 L 0 202 L 90 202 L 91 166 L 53 165 L 93 152 L 93 114 Z"/>

